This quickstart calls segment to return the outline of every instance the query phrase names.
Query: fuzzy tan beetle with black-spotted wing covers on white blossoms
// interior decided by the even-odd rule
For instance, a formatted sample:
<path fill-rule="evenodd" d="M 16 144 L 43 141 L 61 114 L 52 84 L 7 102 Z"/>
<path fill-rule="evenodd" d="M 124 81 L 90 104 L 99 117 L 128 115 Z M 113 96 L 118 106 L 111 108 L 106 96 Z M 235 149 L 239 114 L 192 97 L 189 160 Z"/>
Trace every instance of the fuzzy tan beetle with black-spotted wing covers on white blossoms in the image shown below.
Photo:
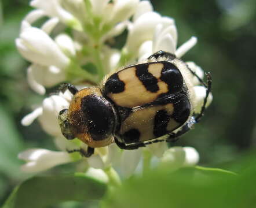
<path fill-rule="evenodd" d="M 193 112 L 188 74 L 206 87 L 199 114 Z M 78 90 L 63 84 L 60 90 L 68 89 L 74 96 L 69 108 L 59 113 L 61 132 L 67 139 L 78 138 L 87 144 L 86 151 L 73 150 L 85 157 L 90 157 L 94 148 L 114 142 L 126 150 L 174 142 L 203 116 L 212 82 L 210 73 L 206 76 L 207 84 L 180 58 L 158 51 L 146 62 L 109 75 L 101 87 Z"/>

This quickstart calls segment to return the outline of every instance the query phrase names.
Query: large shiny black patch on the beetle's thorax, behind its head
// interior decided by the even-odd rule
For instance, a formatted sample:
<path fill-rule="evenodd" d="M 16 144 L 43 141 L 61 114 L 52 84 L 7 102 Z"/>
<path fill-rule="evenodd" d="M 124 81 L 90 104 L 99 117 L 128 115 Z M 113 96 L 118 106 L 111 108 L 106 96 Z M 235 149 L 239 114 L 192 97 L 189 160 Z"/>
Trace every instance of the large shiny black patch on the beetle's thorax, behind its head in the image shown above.
<path fill-rule="evenodd" d="M 93 140 L 104 140 L 114 131 L 114 113 L 111 104 L 103 96 L 83 97 L 81 110 Z"/>

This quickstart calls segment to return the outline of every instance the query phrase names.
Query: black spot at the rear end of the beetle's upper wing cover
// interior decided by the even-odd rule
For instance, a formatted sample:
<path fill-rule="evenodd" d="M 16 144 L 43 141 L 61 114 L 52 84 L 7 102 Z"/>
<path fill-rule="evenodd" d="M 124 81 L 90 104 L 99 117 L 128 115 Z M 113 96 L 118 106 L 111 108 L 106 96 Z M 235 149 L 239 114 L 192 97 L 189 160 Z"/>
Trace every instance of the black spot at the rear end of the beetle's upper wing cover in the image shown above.
<path fill-rule="evenodd" d="M 168 85 L 169 94 L 180 92 L 183 86 L 183 78 L 180 70 L 170 62 L 164 61 L 160 80 Z"/>

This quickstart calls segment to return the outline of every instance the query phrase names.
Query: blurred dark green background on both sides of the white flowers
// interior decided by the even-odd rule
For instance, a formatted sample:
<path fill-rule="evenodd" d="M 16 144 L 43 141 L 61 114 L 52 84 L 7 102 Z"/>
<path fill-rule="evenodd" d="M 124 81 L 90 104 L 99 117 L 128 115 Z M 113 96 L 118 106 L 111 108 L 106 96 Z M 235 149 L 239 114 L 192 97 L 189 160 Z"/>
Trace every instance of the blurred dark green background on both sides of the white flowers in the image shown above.
<path fill-rule="evenodd" d="M 14 45 L 20 22 L 32 9 L 28 2 L 0 2 L 0 204 L 27 177 L 19 170 L 19 151 L 55 148 L 37 121 L 30 127 L 20 124 L 31 106 L 43 99 L 28 87 L 28 62 Z M 154 10 L 175 19 L 178 45 L 198 37 L 198 44 L 182 59 L 196 62 L 213 76 L 214 99 L 206 116 L 175 145 L 195 147 L 200 165 L 226 168 L 256 146 L 256 1 L 151 2 Z"/>

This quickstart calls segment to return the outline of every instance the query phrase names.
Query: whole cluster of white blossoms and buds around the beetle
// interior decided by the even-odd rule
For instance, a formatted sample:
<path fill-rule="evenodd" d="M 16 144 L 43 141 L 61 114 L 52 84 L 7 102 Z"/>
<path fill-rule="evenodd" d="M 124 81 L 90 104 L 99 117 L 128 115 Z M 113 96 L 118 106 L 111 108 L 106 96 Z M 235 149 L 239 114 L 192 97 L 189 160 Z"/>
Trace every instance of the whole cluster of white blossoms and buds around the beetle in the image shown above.
<path fill-rule="evenodd" d="M 78 88 L 99 84 L 109 72 L 120 66 L 145 60 L 149 55 L 164 50 L 182 57 L 197 42 L 195 37 L 177 48 L 177 28 L 173 18 L 153 12 L 149 1 L 140 0 L 32 0 L 32 10 L 21 23 L 16 46 L 20 54 L 31 65 L 27 69 L 28 84 L 38 94 L 45 94 L 46 88 L 63 82 L 75 84 Z M 40 19 L 47 20 L 38 26 Z M 127 31 L 122 49 L 116 49 L 115 38 Z M 193 62 L 189 67 L 203 78 L 203 71 Z M 199 86 L 193 78 L 196 112 L 199 112 L 206 95 L 206 88 Z M 61 134 L 57 117 L 60 110 L 68 108 L 72 95 L 59 92 L 45 98 L 21 121 L 30 125 L 36 118 L 42 129 L 52 135 L 60 151 L 31 149 L 19 154 L 27 161 L 22 169 L 39 172 L 53 166 L 72 161 L 86 161 L 92 168 L 106 170 L 111 166 L 120 169 L 124 176 L 130 176 L 141 160 L 142 150 L 119 150 L 116 144 L 96 148 L 90 158 L 78 153 L 68 153 L 86 147 L 80 140 L 67 140 Z M 209 96 L 207 105 L 212 96 Z M 158 158 L 159 165 L 173 169 L 195 165 L 199 155 L 192 147 L 167 148 L 166 143 L 156 143 L 144 148 Z M 49 159 L 50 158 L 50 159 Z M 89 171 L 88 170 L 88 171 Z M 98 171 L 98 170 L 97 170 Z"/>

